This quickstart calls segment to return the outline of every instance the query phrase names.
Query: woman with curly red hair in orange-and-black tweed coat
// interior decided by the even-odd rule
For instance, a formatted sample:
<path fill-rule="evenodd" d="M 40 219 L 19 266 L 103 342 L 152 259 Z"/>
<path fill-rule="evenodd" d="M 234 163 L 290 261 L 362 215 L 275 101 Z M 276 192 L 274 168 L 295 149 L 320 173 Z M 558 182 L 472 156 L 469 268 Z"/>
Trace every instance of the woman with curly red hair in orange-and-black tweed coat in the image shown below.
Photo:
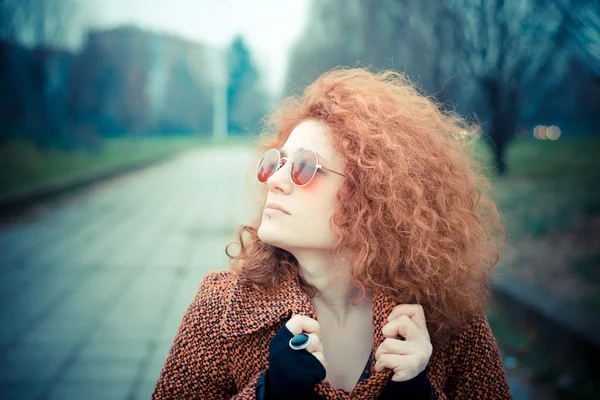
<path fill-rule="evenodd" d="M 200 283 L 153 397 L 510 398 L 475 128 L 365 69 L 324 74 L 270 122 L 265 207 Z"/>

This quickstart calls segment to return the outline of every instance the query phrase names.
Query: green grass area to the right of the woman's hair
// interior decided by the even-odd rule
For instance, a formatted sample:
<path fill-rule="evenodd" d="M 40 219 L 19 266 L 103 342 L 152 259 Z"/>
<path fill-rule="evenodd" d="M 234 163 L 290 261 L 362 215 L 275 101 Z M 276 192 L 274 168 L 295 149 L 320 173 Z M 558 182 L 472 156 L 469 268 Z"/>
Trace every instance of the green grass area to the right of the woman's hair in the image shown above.
<path fill-rule="evenodd" d="M 492 178 L 509 235 L 541 237 L 568 228 L 578 216 L 600 212 L 599 154 L 597 138 L 513 142 L 506 155 L 508 174 Z M 480 157 L 489 156 L 482 146 Z"/>

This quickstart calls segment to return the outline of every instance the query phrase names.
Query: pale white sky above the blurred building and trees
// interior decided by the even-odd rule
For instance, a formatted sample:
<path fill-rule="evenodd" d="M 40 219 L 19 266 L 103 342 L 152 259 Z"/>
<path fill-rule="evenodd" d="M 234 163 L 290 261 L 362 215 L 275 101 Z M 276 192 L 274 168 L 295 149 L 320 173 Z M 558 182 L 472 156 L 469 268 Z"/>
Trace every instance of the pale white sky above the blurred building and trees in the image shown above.
<path fill-rule="evenodd" d="M 269 92 L 282 89 L 311 0 L 85 0 L 92 27 L 133 24 L 225 49 L 242 34 Z"/>

